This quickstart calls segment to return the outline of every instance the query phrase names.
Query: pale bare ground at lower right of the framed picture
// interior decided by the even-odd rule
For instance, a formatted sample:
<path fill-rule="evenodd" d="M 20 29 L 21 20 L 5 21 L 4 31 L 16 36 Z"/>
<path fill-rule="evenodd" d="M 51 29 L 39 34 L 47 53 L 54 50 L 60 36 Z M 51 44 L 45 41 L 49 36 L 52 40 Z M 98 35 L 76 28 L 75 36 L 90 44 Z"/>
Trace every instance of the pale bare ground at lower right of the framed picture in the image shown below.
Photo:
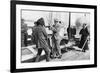
<path fill-rule="evenodd" d="M 79 52 L 79 51 L 69 51 L 62 55 L 61 59 L 51 59 L 51 61 L 75 61 L 75 60 L 89 60 L 90 59 L 90 53 L 89 51 Z M 41 62 L 45 62 L 46 60 L 43 60 Z"/>

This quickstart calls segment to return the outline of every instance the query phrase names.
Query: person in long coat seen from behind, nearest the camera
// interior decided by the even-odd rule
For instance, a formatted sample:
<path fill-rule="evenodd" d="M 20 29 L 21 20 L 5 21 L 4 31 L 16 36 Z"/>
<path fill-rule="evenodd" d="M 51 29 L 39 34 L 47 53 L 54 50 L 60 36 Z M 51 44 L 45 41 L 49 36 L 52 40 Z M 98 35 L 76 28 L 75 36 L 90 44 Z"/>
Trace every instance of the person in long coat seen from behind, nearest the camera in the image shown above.
<path fill-rule="evenodd" d="M 37 26 L 33 28 L 33 37 L 34 41 L 36 43 L 36 47 L 38 48 L 38 53 L 36 56 L 35 62 L 39 62 L 40 55 L 42 53 L 42 50 L 45 51 L 46 61 L 50 61 L 50 49 L 47 43 L 47 33 L 44 28 L 44 19 L 40 18 L 37 21 Z"/>

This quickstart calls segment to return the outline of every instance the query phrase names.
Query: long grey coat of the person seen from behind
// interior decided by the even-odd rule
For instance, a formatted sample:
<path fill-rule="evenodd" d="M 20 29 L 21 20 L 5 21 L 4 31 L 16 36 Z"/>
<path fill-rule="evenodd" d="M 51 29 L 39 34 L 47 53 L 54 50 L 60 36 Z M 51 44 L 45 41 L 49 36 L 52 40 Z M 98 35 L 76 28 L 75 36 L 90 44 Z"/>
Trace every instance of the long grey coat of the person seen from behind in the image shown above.
<path fill-rule="evenodd" d="M 32 36 L 34 37 L 34 41 L 36 43 L 37 48 L 47 48 L 47 33 L 44 27 L 41 25 L 35 26 L 33 28 Z"/>

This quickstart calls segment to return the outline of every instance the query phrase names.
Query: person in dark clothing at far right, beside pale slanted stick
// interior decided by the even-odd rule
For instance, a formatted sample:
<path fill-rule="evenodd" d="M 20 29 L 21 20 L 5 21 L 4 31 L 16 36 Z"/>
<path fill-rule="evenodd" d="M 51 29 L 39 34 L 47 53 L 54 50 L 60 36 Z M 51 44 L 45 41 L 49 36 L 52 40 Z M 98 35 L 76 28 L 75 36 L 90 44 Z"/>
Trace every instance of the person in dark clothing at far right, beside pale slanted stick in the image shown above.
<path fill-rule="evenodd" d="M 87 42 L 87 37 L 89 36 L 89 32 L 86 27 L 86 24 L 83 24 L 83 28 L 81 29 L 79 34 L 81 35 L 79 48 L 82 48 L 82 51 L 85 52 L 86 49 L 89 49 L 88 42 Z"/>

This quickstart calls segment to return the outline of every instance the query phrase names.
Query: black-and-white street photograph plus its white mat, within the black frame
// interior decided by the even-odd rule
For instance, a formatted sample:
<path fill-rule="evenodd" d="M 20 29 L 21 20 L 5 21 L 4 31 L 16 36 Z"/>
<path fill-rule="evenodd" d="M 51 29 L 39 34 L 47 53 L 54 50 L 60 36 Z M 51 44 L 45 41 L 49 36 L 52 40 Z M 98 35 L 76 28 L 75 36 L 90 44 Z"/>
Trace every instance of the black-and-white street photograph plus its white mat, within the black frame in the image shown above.
<path fill-rule="evenodd" d="M 95 67 L 95 6 L 43 4 L 16 4 L 16 69 Z"/>

